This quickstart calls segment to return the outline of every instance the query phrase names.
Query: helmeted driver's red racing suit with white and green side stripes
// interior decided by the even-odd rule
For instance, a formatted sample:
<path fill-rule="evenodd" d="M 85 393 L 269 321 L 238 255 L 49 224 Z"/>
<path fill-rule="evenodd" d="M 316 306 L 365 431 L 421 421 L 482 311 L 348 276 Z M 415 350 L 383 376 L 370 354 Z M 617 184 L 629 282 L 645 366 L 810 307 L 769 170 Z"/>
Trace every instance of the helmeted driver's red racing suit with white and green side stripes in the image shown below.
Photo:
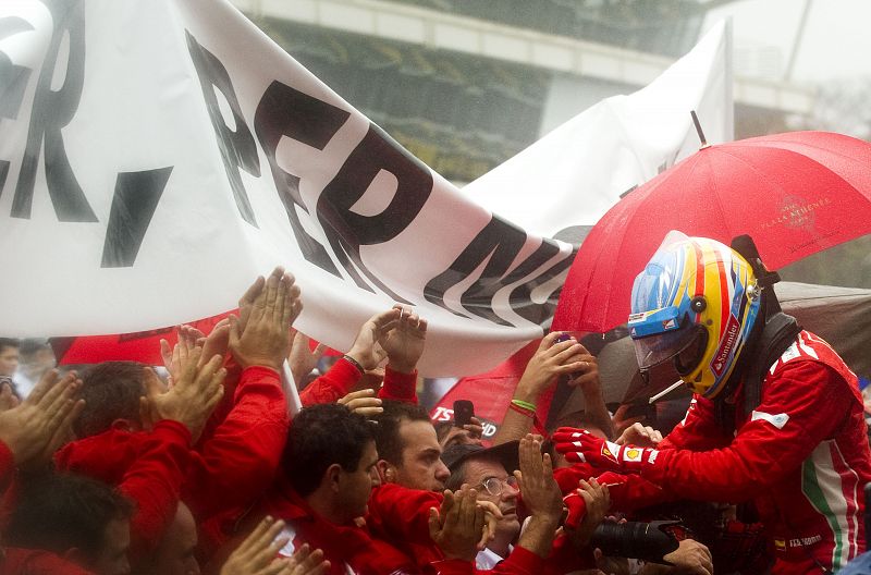
<path fill-rule="evenodd" d="M 740 391 L 736 404 L 741 405 Z M 864 550 L 871 450 L 856 376 L 802 331 L 771 366 L 762 401 L 725 437 L 696 396 L 642 476 L 682 497 L 752 499 L 774 543 L 774 573 L 837 571 Z"/>

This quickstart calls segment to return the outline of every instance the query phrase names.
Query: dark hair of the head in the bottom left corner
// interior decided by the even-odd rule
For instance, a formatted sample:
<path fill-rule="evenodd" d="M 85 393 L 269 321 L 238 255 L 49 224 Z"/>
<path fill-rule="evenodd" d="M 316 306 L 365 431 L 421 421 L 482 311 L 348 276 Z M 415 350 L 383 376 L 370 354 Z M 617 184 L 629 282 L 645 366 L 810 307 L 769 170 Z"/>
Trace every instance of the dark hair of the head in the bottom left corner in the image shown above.
<path fill-rule="evenodd" d="M 134 505 L 114 488 L 75 474 L 45 474 L 23 481 L 3 543 L 62 554 L 79 549 L 96 560 L 113 519 L 130 519 Z"/>

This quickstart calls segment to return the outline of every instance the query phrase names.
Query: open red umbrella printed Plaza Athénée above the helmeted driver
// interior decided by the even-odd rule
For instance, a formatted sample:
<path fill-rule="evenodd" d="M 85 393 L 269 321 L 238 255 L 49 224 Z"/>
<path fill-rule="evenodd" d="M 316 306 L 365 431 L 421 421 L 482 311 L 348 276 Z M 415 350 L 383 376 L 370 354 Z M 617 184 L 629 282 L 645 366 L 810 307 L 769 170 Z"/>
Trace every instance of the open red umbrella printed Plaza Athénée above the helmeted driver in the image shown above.
<path fill-rule="evenodd" d="M 626 322 L 635 277 L 670 230 L 749 234 L 778 269 L 871 232 L 871 144 L 793 132 L 707 146 L 629 193 L 580 246 L 553 329 L 604 332 Z"/>

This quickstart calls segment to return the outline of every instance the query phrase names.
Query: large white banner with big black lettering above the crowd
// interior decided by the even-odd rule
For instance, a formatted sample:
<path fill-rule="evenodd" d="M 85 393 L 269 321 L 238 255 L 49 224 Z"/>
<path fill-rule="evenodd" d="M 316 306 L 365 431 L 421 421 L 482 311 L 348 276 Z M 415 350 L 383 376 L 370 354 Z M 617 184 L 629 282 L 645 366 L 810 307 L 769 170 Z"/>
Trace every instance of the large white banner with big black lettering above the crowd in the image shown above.
<path fill-rule="evenodd" d="M 539 337 L 572 260 L 464 199 L 224 0 L 0 4 L 0 333 L 133 332 L 284 265 L 347 348 L 394 302 L 421 372 Z"/>

